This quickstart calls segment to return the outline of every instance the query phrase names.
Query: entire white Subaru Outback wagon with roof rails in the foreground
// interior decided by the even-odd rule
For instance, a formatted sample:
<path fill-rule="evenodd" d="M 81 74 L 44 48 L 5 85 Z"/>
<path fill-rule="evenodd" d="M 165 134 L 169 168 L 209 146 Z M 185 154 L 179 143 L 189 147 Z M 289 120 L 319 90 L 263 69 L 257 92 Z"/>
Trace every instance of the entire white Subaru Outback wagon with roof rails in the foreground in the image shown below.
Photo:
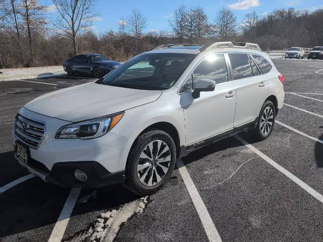
<path fill-rule="evenodd" d="M 176 159 L 240 131 L 272 132 L 284 77 L 257 44 L 167 44 L 18 112 L 15 158 L 44 181 L 147 195 Z"/>

